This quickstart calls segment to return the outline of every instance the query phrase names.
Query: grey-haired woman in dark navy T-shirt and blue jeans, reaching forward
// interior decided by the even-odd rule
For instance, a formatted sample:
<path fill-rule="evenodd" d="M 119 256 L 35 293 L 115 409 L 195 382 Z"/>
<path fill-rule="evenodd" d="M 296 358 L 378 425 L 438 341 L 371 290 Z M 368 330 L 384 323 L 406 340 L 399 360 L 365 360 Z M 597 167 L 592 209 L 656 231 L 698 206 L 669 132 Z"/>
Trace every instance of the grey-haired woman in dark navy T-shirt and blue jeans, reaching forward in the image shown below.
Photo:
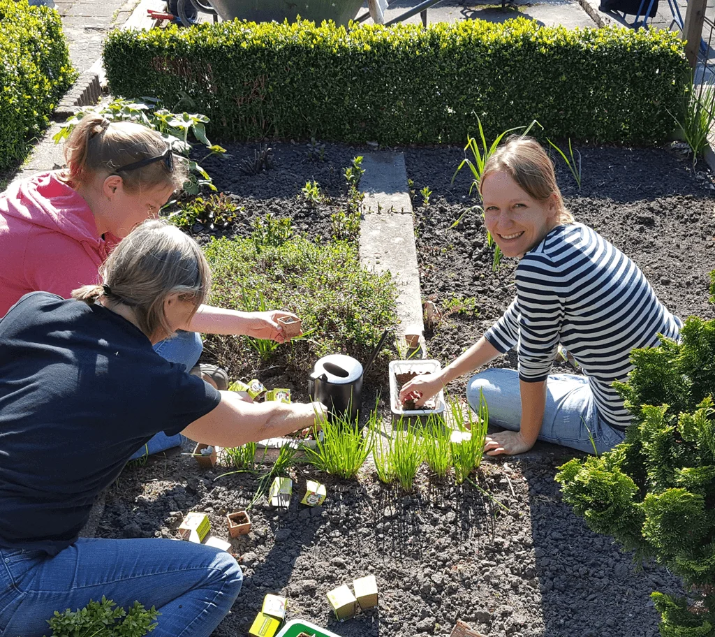
<path fill-rule="evenodd" d="M 22 297 L 0 320 L 0 635 L 40 637 L 102 596 L 161 613 L 154 636 L 208 637 L 242 575 L 228 553 L 78 538 L 92 503 L 159 431 L 235 447 L 309 427 L 320 403 L 245 403 L 154 352 L 209 290 L 196 242 L 151 221 L 74 299 Z"/>

